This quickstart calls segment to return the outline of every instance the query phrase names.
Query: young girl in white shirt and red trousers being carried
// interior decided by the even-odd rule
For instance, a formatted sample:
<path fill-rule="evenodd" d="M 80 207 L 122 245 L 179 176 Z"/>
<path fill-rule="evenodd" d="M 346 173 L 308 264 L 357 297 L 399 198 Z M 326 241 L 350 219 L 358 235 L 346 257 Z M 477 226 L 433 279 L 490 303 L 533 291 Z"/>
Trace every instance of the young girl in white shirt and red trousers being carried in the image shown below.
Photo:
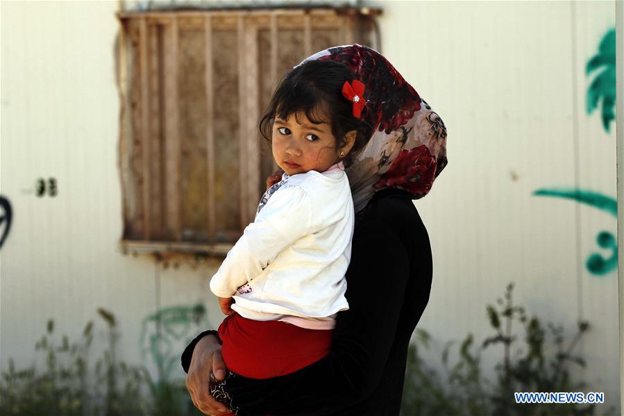
<path fill-rule="evenodd" d="M 372 132 L 364 89 L 346 65 L 314 60 L 283 78 L 260 122 L 285 173 L 210 281 L 235 374 L 289 374 L 329 352 L 335 316 L 348 309 L 354 208 L 344 168 Z"/>

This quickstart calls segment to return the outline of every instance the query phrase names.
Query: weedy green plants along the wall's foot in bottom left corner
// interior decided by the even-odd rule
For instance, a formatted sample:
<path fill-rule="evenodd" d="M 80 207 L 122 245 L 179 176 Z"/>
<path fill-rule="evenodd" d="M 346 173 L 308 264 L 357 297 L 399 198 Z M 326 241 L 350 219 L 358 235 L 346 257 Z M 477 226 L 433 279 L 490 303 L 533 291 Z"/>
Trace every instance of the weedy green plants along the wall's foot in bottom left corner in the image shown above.
<path fill-rule="evenodd" d="M 45 359 L 44 370 L 37 372 L 35 364 L 18 370 L 9 360 L 8 372 L 0 380 L 0 415 L 202 415 L 192 406 L 182 381 L 153 381 L 145 367 L 117 360 L 115 315 L 102 308 L 97 312 L 106 322 L 108 344 L 103 356 L 89 365 L 93 322 L 87 323 L 78 341 L 70 343 L 67 335 L 57 341 L 54 322 L 49 320 L 35 345 Z"/>

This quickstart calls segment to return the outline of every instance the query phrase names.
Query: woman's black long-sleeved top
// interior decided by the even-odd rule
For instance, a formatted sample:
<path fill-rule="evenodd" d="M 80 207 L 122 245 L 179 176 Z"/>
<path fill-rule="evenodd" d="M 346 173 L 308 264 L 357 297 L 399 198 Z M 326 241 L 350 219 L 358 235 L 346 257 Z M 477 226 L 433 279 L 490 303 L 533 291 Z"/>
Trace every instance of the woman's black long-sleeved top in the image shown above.
<path fill-rule="evenodd" d="M 360 214 L 346 272 L 349 309 L 338 313 L 331 352 L 285 376 L 228 379 L 239 415 L 399 414 L 407 345 L 431 290 L 429 236 L 401 190 L 377 192 Z M 183 353 L 185 371 L 199 338 Z"/>

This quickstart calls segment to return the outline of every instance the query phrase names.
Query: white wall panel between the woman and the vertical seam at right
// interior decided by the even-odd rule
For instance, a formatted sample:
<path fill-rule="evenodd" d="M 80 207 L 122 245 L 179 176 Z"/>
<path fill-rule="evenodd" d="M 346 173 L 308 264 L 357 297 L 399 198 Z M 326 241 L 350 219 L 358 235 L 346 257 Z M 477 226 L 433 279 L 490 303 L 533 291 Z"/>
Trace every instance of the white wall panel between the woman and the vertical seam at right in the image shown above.
<path fill-rule="evenodd" d="M 484 303 L 495 301 L 509 281 L 516 281 L 518 299 L 529 302 L 539 302 L 525 296 L 538 289 L 563 290 L 576 299 L 575 285 L 561 287 L 574 274 L 566 259 L 575 246 L 565 238 L 573 206 L 548 213 L 532 197 L 545 175 L 573 177 L 571 107 L 564 105 L 571 98 L 571 58 L 569 47 L 560 47 L 568 44 L 569 19 L 549 38 L 543 32 L 551 22 L 545 10 L 535 10 L 545 7 L 539 3 L 392 4 L 381 21 L 385 56 L 448 128 L 448 167 L 428 197 L 416 202 L 435 256 L 425 319 L 444 316 L 450 326 L 443 336 L 466 333 L 484 324 Z M 549 7 L 569 15 L 564 4 Z M 543 53 L 532 49 L 547 40 L 554 46 L 542 46 Z M 545 73 L 558 75 L 554 85 L 540 81 Z M 559 244 L 553 230 L 563 236 Z M 438 310 L 443 303 L 456 308 Z M 553 310 L 568 316 L 568 301 L 558 306 Z"/>

